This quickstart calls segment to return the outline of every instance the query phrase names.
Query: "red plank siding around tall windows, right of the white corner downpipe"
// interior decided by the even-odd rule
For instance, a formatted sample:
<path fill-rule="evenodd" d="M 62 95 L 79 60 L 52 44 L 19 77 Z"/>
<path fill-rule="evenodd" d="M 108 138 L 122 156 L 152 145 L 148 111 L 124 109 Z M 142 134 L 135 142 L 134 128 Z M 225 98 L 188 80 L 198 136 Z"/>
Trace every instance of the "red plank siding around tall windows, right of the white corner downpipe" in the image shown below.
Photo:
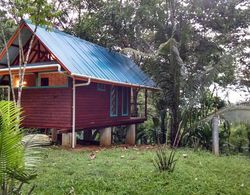
<path fill-rule="evenodd" d="M 76 128 L 97 128 L 107 125 L 115 126 L 123 124 L 130 118 L 122 116 L 122 88 L 118 87 L 118 116 L 110 116 L 110 85 L 105 85 L 106 90 L 97 90 L 97 84 L 77 87 L 76 89 Z M 129 90 L 130 91 L 130 90 Z M 129 93 L 130 102 L 130 93 Z M 128 105 L 130 108 L 130 105 Z"/>

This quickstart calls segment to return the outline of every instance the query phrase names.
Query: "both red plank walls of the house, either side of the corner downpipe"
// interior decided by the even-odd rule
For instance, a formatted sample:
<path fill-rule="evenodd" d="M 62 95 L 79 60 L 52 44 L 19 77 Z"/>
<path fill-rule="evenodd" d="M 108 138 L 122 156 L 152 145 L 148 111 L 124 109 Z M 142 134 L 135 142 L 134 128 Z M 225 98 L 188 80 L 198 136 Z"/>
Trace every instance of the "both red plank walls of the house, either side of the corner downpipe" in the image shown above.
<path fill-rule="evenodd" d="M 118 90 L 118 116 L 110 117 L 110 88 L 98 91 L 97 84 L 76 88 L 76 129 L 125 124 L 122 115 L 122 88 Z M 130 90 L 129 90 L 130 92 Z M 129 100 L 130 102 L 130 93 Z M 23 126 L 29 128 L 72 128 L 72 88 L 23 89 Z"/>

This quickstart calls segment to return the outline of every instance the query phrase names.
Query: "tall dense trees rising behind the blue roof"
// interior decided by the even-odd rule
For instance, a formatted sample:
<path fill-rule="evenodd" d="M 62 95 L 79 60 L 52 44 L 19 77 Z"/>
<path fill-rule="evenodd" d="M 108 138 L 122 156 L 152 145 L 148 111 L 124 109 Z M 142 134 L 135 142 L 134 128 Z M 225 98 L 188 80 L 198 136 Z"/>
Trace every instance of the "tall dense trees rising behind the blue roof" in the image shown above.
<path fill-rule="evenodd" d="M 122 51 L 152 76 L 162 91 L 150 103 L 156 108 L 149 115 L 154 124 L 145 126 L 144 133 L 139 129 L 142 142 L 166 143 L 169 137 L 173 141 L 178 129 L 200 134 L 202 127 L 190 128 L 216 107 L 214 94 L 210 100 L 207 94 L 211 84 L 244 85 L 249 91 L 247 0 L 10 2 L 1 5 L 7 9 L 16 5 L 17 16 L 28 13 L 33 21 L 41 14 L 41 24 L 53 22 L 80 38 Z M 42 13 L 39 7 L 44 8 Z M 51 21 L 51 13 L 58 10 Z"/>

